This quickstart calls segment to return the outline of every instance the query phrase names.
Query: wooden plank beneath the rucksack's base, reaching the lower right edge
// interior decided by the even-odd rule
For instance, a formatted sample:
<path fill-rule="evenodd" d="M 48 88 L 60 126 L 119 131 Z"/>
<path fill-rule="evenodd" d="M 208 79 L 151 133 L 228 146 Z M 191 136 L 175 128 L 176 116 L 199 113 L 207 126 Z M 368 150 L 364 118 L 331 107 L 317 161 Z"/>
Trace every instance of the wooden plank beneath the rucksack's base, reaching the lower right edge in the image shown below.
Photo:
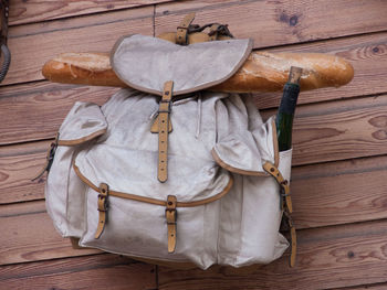
<path fill-rule="evenodd" d="M 287 257 L 240 270 L 159 267 L 159 289 L 330 289 L 387 281 L 387 222 L 299 230 L 295 268 Z"/>

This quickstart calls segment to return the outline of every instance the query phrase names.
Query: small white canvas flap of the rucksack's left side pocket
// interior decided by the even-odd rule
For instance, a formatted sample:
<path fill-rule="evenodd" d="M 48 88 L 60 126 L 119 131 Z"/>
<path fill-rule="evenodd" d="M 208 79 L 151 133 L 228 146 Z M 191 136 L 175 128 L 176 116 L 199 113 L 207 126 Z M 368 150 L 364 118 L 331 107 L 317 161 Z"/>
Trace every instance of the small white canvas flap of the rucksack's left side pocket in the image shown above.
<path fill-rule="evenodd" d="M 76 146 L 106 132 L 107 123 L 98 105 L 76 101 L 59 130 L 60 146 Z"/>

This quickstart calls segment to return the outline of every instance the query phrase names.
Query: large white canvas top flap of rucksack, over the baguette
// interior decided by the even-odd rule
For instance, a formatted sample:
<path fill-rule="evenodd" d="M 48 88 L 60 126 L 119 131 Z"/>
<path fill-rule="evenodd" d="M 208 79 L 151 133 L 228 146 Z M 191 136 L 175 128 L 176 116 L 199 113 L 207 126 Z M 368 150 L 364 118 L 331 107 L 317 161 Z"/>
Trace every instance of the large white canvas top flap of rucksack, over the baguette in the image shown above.
<path fill-rule="evenodd" d="M 113 47 L 111 64 L 129 87 L 163 95 L 174 80 L 174 95 L 220 84 L 231 77 L 252 50 L 252 40 L 226 40 L 177 45 L 157 37 L 129 35 Z"/>

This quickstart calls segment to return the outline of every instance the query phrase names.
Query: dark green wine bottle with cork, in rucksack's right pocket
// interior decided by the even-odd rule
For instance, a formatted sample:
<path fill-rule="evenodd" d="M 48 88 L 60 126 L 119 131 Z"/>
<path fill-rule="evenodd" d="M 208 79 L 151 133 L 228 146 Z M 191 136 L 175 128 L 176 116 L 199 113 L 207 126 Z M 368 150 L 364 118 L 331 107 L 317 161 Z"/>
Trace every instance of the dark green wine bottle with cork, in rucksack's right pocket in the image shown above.
<path fill-rule="evenodd" d="M 292 128 L 300 94 L 300 78 L 302 68 L 292 66 L 289 74 L 289 80 L 283 87 L 281 105 L 276 114 L 276 138 L 279 141 L 279 150 L 285 151 L 292 148 Z"/>

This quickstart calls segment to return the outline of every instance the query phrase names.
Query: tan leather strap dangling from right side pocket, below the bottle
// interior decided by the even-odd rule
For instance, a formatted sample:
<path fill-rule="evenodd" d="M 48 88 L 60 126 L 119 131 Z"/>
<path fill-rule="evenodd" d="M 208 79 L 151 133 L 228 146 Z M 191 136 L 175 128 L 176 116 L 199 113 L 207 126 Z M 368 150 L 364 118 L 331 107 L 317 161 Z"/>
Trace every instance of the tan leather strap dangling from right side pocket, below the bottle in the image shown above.
<path fill-rule="evenodd" d="M 287 222 L 290 233 L 291 233 L 291 256 L 290 256 L 290 267 L 295 266 L 295 257 L 297 253 L 297 237 L 295 233 L 295 227 L 293 224 L 293 219 L 291 216 L 291 213 L 293 212 L 293 205 L 292 205 L 292 200 L 290 195 L 290 186 L 287 180 L 283 178 L 281 174 L 280 170 L 274 167 L 270 162 L 265 162 L 263 164 L 263 169 L 272 175 L 276 182 L 280 184 L 280 191 L 281 191 L 281 210 L 283 211 L 283 216 Z"/>

